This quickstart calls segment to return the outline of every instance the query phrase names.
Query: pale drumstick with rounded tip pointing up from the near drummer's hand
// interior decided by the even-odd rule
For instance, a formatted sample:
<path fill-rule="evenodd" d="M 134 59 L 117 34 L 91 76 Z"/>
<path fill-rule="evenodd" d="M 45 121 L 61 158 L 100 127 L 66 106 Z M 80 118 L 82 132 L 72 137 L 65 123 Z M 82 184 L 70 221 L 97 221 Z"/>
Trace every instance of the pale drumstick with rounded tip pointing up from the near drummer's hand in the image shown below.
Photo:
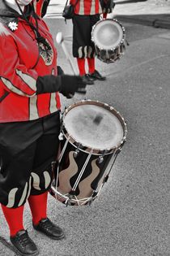
<path fill-rule="evenodd" d="M 70 58 L 70 54 L 69 54 L 68 50 L 66 49 L 66 45 L 65 45 L 65 42 L 64 42 L 64 37 L 62 36 L 62 32 L 57 33 L 56 41 L 57 41 L 57 44 L 62 46 L 62 50 L 63 50 L 64 54 L 66 55 L 66 59 L 70 63 L 71 70 L 74 73 L 74 76 L 76 76 L 77 72 L 74 68 L 74 63 L 73 63 L 72 59 Z M 77 93 L 83 93 L 84 94 L 84 93 L 86 93 L 86 89 L 79 88 Z"/>

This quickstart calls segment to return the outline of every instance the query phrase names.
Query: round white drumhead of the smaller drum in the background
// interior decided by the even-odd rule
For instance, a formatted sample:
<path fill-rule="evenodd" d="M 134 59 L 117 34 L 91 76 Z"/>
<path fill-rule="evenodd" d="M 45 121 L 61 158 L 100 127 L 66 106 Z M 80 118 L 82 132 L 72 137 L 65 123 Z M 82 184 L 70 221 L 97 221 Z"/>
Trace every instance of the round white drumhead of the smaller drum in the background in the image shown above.
<path fill-rule="evenodd" d="M 120 45 L 124 33 L 116 20 L 100 20 L 92 30 L 92 38 L 100 49 L 111 50 Z"/>

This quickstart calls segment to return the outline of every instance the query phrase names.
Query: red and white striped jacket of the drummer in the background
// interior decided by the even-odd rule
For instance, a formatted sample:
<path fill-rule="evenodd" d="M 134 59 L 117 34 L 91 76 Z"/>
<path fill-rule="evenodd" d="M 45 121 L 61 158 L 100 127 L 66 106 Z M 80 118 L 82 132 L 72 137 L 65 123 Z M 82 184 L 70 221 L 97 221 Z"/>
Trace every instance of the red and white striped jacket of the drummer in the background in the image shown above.
<path fill-rule="evenodd" d="M 102 13 L 100 0 L 70 0 L 70 4 L 73 6 L 76 2 L 74 13 L 77 15 L 96 15 Z"/>

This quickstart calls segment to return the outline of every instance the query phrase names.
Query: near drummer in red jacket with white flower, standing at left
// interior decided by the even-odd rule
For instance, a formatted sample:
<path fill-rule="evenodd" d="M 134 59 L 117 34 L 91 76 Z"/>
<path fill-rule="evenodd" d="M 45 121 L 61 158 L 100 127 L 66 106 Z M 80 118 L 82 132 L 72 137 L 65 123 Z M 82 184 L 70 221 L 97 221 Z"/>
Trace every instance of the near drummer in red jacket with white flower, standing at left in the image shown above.
<path fill-rule="evenodd" d="M 58 74 L 53 37 L 39 16 L 32 0 L 0 1 L 0 203 L 21 255 L 39 254 L 24 228 L 26 202 L 33 228 L 52 239 L 64 237 L 47 217 L 59 144 L 59 93 L 71 98 L 86 86 L 80 76 Z"/>

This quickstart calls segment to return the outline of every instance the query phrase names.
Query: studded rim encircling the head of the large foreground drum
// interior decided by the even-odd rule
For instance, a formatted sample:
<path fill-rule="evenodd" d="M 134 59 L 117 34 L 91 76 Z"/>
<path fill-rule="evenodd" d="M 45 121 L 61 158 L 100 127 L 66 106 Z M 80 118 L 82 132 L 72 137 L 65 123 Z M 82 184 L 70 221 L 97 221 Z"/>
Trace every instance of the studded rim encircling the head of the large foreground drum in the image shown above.
<path fill-rule="evenodd" d="M 104 106 L 104 108 L 108 109 L 108 111 L 114 112 L 117 119 L 120 121 L 121 126 L 122 126 L 122 130 L 123 130 L 123 137 L 117 145 L 115 145 L 115 146 L 113 146 L 112 148 L 109 148 L 109 149 L 106 148 L 105 150 L 100 150 L 100 149 L 96 149 L 96 148 L 91 148 L 88 145 L 84 145 L 84 144 L 82 144 L 81 141 L 77 141 L 73 136 L 70 136 L 70 133 L 66 129 L 66 125 L 64 124 L 64 118 L 65 118 L 66 114 L 71 109 L 73 109 L 75 106 L 86 105 L 87 103 L 90 103 L 91 105 L 95 105 L 93 103 L 96 103 L 97 106 Z M 94 100 L 91 100 L 91 99 L 85 99 L 85 100 L 81 100 L 79 102 L 74 102 L 73 104 L 70 104 L 69 106 L 66 106 L 65 111 L 63 111 L 63 113 L 62 113 L 62 133 L 66 137 L 66 139 L 70 142 L 70 144 L 74 145 L 74 142 L 75 142 L 76 144 L 83 145 L 83 147 L 87 147 L 87 149 L 89 149 L 88 151 L 87 150 L 82 150 L 81 148 L 79 149 L 79 150 L 82 150 L 85 153 L 90 153 L 90 151 L 93 150 L 95 152 L 95 154 L 103 154 L 104 151 L 105 151 L 104 154 L 111 154 L 115 150 L 120 149 L 124 145 L 124 143 L 126 141 L 126 137 L 127 137 L 127 124 L 126 124 L 125 119 L 123 118 L 123 116 L 120 114 L 120 112 L 117 111 L 113 106 L 108 105 L 108 103 L 104 103 L 104 102 L 100 102 L 100 101 L 94 101 Z M 66 133 L 69 136 L 66 136 Z M 74 145 L 74 147 L 76 148 L 77 146 Z M 92 154 L 94 154 L 94 152 Z"/>

